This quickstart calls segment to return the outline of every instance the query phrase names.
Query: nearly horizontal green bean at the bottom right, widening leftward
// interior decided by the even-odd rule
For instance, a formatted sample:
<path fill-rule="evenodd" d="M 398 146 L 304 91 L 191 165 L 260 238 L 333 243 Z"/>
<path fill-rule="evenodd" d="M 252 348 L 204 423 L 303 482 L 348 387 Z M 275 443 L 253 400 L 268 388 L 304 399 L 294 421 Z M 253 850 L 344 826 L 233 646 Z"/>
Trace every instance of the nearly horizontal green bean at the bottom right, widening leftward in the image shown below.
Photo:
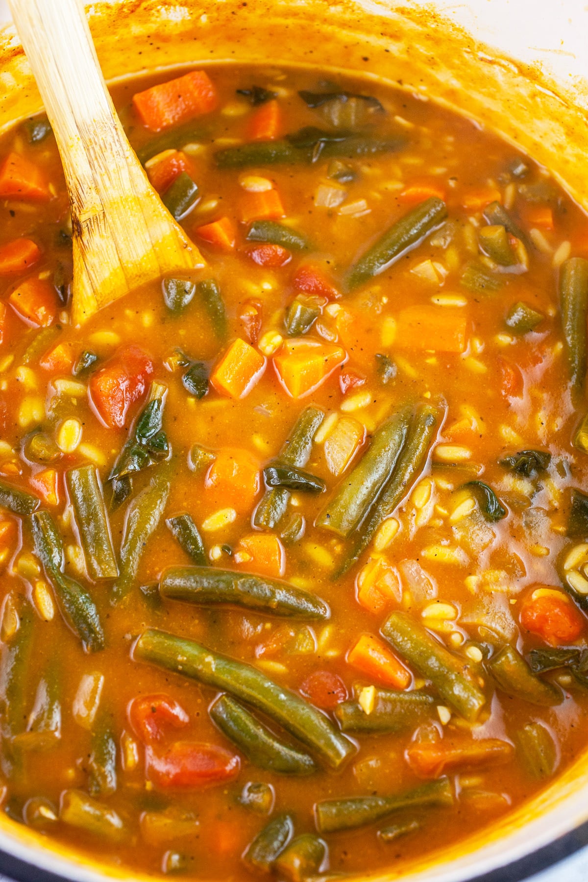
<path fill-rule="evenodd" d="M 447 778 L 429 781 L 395 796 L 352 796 L 349 799 L 326 799 L 315 805 L 316 829 L 335 833 L 374 824 L 394 811 L 426 805 L 452 805 L 453 793 Z"/>

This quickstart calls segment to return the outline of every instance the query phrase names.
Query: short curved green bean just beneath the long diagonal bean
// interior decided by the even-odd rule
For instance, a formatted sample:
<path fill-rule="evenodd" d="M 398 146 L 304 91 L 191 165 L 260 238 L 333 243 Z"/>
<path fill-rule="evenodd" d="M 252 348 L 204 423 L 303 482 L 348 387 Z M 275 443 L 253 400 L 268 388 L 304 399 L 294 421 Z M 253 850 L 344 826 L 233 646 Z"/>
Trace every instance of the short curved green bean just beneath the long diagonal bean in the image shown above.
<path fill-rule="evenodd" d="M 236 744 L 249 762 L 277 774 L 312 774 L 314 760 L 308 753 L 297 751 L 279 739 L 238 701 L 221 695 L 209 710 L 212 720 L 223 735 Z"/>

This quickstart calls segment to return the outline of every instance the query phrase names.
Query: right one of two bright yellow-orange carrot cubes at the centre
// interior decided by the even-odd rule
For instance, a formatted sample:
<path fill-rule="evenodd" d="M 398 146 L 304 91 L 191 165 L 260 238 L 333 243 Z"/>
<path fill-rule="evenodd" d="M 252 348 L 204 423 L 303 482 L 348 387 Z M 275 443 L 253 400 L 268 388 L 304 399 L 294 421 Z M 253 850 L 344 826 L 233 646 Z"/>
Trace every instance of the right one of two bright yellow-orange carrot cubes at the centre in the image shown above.
<path fill-rule="evenodd" d="M 273 356 L 279 380 L 293 398 L 314 392 L 346 361 L 346 351 L 332 343 L 294 338 Z"/>

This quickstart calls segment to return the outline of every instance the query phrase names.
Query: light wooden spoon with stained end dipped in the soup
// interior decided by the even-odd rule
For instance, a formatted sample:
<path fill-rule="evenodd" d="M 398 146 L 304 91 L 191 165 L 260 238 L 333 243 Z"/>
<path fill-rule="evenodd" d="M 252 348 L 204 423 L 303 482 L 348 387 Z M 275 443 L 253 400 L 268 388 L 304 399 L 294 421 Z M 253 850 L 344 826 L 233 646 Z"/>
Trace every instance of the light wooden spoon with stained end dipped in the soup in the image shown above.
<path fill-rule="evenodd" d="M 72 321 L 165 273 L 203 266 L 133 153 L 81 0 L 9 0 L 55 132 L 71 201 Z"/>

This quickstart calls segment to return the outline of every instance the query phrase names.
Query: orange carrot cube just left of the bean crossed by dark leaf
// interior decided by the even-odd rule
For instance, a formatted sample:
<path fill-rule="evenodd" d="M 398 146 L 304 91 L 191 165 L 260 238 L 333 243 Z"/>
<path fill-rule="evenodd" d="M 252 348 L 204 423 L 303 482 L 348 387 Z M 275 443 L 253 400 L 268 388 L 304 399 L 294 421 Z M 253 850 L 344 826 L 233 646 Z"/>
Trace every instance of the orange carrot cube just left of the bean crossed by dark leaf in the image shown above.
<path fill-rule="evenodd" d="M 246 450 L 224 448 L 205 476 L 205 490 L 213 491 L 215 504 L 248 512 L 260 488 L 259 463 Z"/>

